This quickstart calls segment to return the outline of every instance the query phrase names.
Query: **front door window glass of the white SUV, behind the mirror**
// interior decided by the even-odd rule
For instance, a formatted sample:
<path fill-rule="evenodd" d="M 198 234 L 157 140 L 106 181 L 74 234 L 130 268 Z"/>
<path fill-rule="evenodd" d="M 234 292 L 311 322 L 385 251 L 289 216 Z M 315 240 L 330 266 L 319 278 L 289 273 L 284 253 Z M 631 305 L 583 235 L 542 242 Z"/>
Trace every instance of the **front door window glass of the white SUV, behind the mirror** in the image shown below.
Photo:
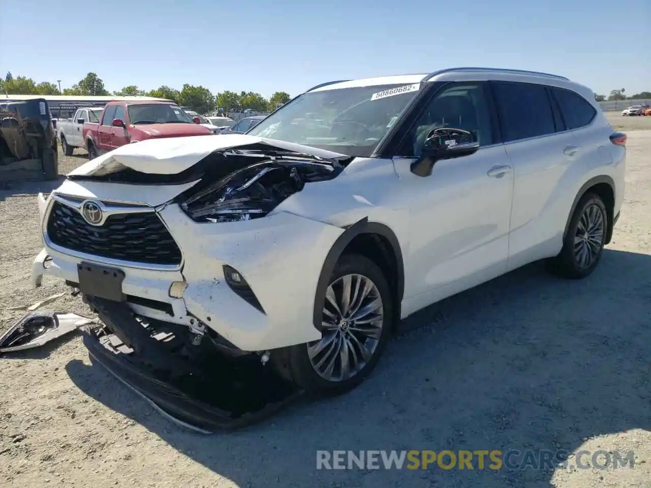
<path fill-rule="evenodd" d="M 454 83 L 434 95 L 410 129 L 407 144 L 400 152 L 404 156 L 420 156 L 428 134 L 442 127 L 470 131 L 480 146 L 493 143 L 483 83 Z"/>

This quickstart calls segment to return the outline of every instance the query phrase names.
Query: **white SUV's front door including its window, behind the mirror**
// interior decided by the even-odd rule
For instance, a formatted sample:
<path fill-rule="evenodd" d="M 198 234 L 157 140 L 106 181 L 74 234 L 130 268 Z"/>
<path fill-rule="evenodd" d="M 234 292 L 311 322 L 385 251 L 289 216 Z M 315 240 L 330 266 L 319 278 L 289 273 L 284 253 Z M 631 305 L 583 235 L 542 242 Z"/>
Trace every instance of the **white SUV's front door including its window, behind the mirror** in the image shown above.
<path fill-rule="evenodd" d="M 409 129 L 400 151 L 417 157 L 432 129 L 449 127 L 476 135 L 475 154 L 437 161 L 426 177 L 411 173 L 413 157 L 395 158 L 410 195 L 406 313 L 506 271 L 513 172 L 503 144 L 493 143 L 487 89 L 476 81 L 446 85 Z"/>

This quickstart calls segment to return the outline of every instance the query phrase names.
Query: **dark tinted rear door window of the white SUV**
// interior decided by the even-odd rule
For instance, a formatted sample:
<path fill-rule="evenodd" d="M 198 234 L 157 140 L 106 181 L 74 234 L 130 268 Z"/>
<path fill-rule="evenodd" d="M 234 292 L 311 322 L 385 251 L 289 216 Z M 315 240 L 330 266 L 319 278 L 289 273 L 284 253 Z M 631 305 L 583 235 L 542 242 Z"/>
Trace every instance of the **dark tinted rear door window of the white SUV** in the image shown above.
<path fill-rule="evenodd" d="M 493 82 L 504 142 L 556 131 L 551 103 L 544 85 Z"/>

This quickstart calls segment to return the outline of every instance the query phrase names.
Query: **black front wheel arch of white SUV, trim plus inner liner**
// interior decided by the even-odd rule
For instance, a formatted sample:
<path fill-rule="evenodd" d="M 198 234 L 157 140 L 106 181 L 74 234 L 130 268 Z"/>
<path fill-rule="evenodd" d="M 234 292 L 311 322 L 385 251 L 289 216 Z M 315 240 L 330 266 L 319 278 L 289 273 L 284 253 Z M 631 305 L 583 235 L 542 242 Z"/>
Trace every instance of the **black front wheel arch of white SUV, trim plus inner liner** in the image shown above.
<path fill-rule="evenodd" d="M 374 245 L 361 250 L 360 244 L 365 239 L 366 241 L 374 241 Z M 391 228 L 385 224 L 369 222 L 368 217 L 364 217 L 354 224 L 346 226 L 346 230 L 337 238 L 326 256 L 314 297 L 314 327 L 318 330 L 321 329 L 323 303 L 326 300 L 328 281 L 340 256 L 347 251 L 357 251 L 359 254 L 367 256 L 378 264 L 385 273 L 389 286 L 391 286 L 394 293 L 394 324 L 397 324 L 400 321 L 400 304 L 404 296 L 404 261 L 400 242 Z M 378 252 L 379 254 L 376 254 Z M 381 258 L 384 258 L 385 262 L 381 262 Z"/>

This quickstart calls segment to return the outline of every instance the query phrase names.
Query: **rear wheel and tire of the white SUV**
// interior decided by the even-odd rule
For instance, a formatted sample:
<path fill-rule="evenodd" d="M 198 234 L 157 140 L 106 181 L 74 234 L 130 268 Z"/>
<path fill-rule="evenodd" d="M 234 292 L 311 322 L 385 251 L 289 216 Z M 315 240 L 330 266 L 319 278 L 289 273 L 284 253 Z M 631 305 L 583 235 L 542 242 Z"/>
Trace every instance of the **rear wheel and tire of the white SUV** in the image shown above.
<path fill-rule="evenodd" d="M 599 264 L 608 231 L 608 212 L 599 195 L 586 193 L 574 210 L 561 252 L 547 263 L 570 279 L 589 276 Z"/>

